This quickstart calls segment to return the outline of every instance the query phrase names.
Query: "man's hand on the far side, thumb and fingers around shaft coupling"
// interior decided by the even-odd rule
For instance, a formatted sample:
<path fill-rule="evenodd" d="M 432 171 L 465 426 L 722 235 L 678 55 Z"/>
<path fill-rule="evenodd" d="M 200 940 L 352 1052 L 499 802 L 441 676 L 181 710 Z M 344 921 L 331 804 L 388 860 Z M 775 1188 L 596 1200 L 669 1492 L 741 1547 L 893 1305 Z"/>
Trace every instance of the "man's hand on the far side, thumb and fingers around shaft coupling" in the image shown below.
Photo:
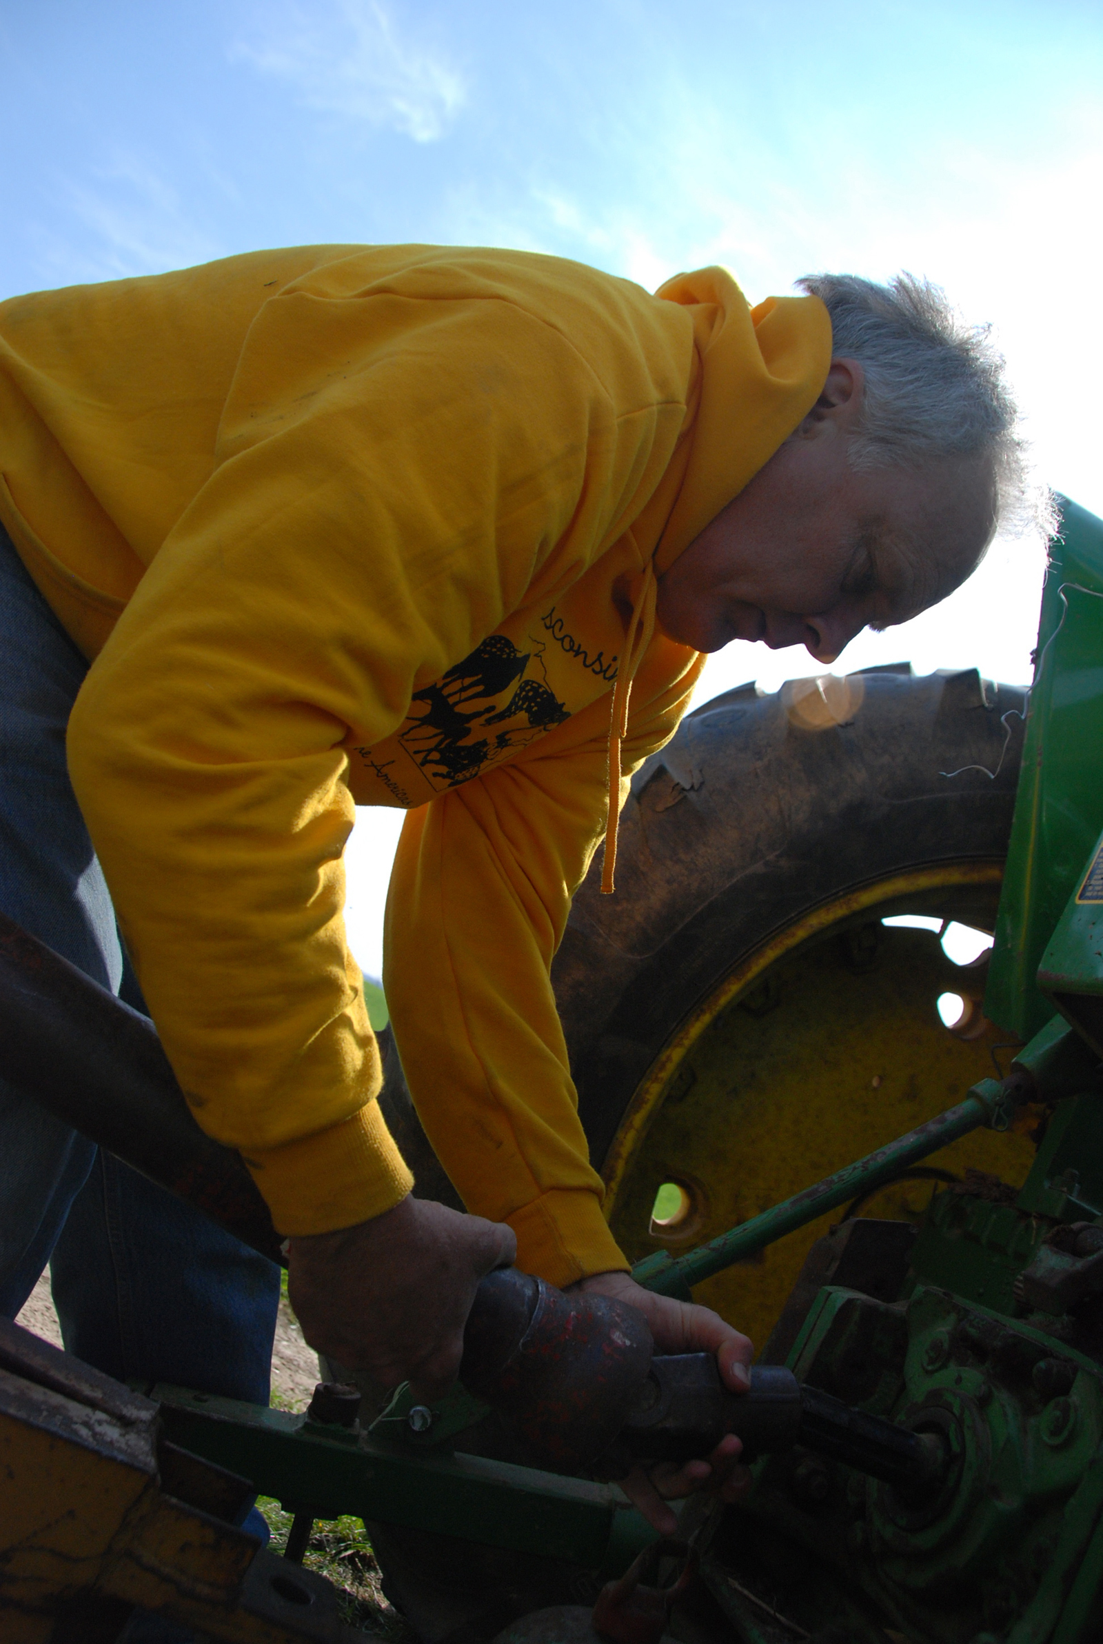
<path fill-rule="evenodd" d="M 755 1348 L 710 1307 L 676 1302 L 671 1295 L 654 1295 L 626 1272 L 595 1272 L 570 1289 L 597 1291 L 598 1295 L 628 1302 L 648 1320 L 659 1353 L 715 1353 L 723 1384 L 731 1392 L 746 1392 L 750 1388 Z M 735 1434 L 728 1434 L 708 1460 L 684 1462 L 682 1466 L 672 1462 L 659 1462 L 649 1468 L 638 1466 L 621 1480 L 621 1489 L 661 1535 L 672 1535 L 677 1531 L 677 1519 L 667 1501 L 692 1496 L 699 1489 L 715 1489 L 725 1501 L 738 1501 L 746 1493 L 750 1473 L 738 1465 L 741 1450 L 743 1445 Z"/>

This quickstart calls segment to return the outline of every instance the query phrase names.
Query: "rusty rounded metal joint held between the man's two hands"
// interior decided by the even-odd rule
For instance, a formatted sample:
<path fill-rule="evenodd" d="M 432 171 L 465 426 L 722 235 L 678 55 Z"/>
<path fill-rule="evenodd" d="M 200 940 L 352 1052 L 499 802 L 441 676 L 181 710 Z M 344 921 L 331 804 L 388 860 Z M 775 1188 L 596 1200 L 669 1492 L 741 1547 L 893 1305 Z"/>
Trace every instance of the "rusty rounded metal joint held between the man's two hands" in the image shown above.
<path fill-rule="evenodd" d="M 607 1295 L 564 1295 L 505 1268 L 478 1286 L 460 1381 L 546 1465 L 570 1470 L 615 1437 L 648 1376 L 643 1314 Z"/>

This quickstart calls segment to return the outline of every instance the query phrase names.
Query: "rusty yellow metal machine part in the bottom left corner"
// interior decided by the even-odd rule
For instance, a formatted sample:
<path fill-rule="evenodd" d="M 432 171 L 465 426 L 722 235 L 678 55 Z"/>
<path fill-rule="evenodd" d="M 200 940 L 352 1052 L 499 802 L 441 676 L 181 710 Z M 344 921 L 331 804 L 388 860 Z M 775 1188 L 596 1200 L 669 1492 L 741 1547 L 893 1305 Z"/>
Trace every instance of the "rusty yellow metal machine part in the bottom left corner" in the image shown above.
<path fill-rule="evenodd" d="M 133 1608 L 224 1644 L 353 1644 L 337 1595 L 222 1516 L 248 1485 L 159 1411 L 0 1320 L 0 1636 L 108 1639 Z"/>

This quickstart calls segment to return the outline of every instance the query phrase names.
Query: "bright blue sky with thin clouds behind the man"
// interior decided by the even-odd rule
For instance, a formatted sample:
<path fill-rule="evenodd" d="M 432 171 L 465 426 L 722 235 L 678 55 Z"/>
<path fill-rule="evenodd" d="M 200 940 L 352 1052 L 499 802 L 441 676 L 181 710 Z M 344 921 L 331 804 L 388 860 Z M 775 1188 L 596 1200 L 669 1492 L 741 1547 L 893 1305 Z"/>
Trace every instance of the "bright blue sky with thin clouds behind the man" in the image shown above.
<path fill-rule="evenodd" d="M 531 247 L 648 286 L 722 261 L 755 299 L 911 268 L 995 324 L 1039 473 L 1103 513 L 1098 3 L 0 0 L 0 298 L 362 240 Z M 1039 582 L 1036 543 L 998 543 L 845 666 L 1024 681 Z M 733 644 L 705 686 L 810 671 Z M 372 970 L 357 860 L 378 883 L 390 825 L 350 858 Z"/>

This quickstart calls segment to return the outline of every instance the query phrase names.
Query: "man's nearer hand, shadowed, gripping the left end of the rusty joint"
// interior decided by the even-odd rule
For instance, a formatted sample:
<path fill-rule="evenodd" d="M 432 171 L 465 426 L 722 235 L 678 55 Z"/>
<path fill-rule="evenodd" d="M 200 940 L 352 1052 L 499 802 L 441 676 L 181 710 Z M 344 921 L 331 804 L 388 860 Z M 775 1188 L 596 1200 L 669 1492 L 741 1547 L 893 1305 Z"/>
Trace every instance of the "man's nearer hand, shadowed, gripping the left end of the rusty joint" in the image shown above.
<path fill-rule="evenodd" d="M 289 1240 L 288 1295 L 317 1353 L 383 1388 L 447 1392 L 478 1281 L 516 1256 L 513 1230 L 413 1195 L 372 1221 Z"/>

